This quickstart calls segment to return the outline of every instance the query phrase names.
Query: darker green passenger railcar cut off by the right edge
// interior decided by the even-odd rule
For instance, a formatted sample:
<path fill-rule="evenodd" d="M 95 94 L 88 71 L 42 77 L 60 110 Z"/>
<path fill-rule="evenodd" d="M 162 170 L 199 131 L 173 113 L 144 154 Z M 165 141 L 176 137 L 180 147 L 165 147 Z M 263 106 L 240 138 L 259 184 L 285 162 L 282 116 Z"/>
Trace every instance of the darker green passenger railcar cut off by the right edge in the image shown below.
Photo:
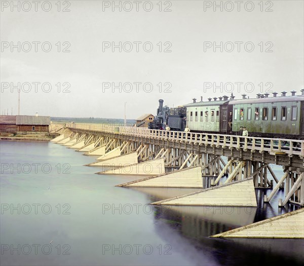
<path fill-rule="evenodd" d="M 251 136 L 301 135 L 303 96 L 242 99 L 233 104 L 233 131 L 246 127 Z"/>

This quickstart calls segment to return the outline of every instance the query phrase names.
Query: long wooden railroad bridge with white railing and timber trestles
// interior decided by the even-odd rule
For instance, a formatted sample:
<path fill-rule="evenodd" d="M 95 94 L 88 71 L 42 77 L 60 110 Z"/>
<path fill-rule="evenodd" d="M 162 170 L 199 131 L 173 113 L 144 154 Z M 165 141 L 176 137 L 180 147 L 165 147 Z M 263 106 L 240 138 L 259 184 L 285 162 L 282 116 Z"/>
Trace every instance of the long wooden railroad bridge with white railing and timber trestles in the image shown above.
<path fill-rule="evenodd" d="M 129 170 L 124 172 L 127 165 L 142 162 L 162 162 L 167 172 L 201 167 L 201 176 L 210 180 L 207 186 L 218 186 L 222 180 L 225 185 L 253 179 L 254 188 L 272 189 L 269 196 L 264 196 L 264 202 L 270 202 L 279 188 L 284 187 L 285 199 L 279 200 L 279 206 L 287 203 L 304 206 L 303 140 L 149 130 L 111 124 L 70 123 L 65 124 L 61 132 L 53 142 L 86 151 L 86 155 L 101 155 L 98 162 L 91 165 L 112 169 L 104 173 L 130 174 Z M 135 155 L 136 162 L 125 160 L 131 155 Z M 111 165 L 113 160 L 127 163 Z M 282 166 L 282 176 L 276 176 L 272 164 Z M 148 174 L 164 175 L 164 171 Z"/>

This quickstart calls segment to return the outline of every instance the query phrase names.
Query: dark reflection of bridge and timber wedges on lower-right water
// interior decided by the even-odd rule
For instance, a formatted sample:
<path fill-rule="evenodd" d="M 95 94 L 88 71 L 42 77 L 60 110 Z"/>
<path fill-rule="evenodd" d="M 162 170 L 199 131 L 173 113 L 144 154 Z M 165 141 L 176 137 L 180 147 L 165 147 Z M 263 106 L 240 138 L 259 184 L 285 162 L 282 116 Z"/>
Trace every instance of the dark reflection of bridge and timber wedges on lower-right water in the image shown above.
<path fill-rule="evenodd" d="M 189 189 L 136 187 L 147 194 L 150 202 L 190 193 Z M 281 192 L 281 195 L 282 196 Z M 294 239 L 213 239 L 219 234 L 259 220 L 271 218 L 298 209 L 297 206 L 274 208 L 264 204 L 264 192 L 256 190 L 256 207 L 211 206 L 155 206 L 156 226 L 165 241 L 172 241 L 171 234 L 164 231 L 165 224 L 191 241 L 204 258 L 216 258 L 221 265 L 257 265 L 292 263 L 301 265 L 304 259 L 304 240 Z M 196 257 L 196 256 L 195 256 Z M 204 264 L 202 264 L 204 265 Z"/>

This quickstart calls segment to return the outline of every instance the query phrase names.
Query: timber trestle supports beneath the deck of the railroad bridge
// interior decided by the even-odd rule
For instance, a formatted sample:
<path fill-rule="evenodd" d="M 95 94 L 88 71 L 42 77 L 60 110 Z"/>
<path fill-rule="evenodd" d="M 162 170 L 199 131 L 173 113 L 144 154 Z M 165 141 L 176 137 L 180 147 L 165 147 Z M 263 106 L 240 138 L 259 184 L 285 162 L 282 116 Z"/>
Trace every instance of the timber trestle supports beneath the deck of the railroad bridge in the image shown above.
<path fill-rule="evenodd" d="M 65 139 L 66 142 L 64 141 Z M 264 196 L 265 203 L 273 199 L 279 188 L 285 187 L 286 197 L 279 201 L 279 206 L 285 206 L 287 203 L 304 206 L 303 168 L 283 166 L 284 174 L 281 178 L 278 178 L 272 170 L 271 164 L 234 158 L 233 156 L 226 156 L 227 162 L 225 162 L 221 155 L 207 152 L 198 154 L 197 150 L 189 149 L 185 144 L 182 144 L 182 141 L 177 145 L 169 145 L 169 142 L 165 141 L 162 144 L 149 144 L 140 141 L 136 137 L 133 140 L 124 140 L 123 138 L 107 136 L 106 134 L 71 131 L 64 138 L 53 142 L 67 145 L 77 151 L 87 151 L 85 155 L 104 156 L 114 149 L 119 150 L 119 156 L 136 152 L 138 163 L 164 159 L 165 167 L 172 170 L 201 166 L 202 177 L 210 180 L 210 182 L 207 182 L 207 187 L 253 177 L 255 188 L 273 189 L 269 196 Z M 103 147 L 102 153 L 95 153 L 101 147 Z M 244 150 L 247 150 L 247 141 L 244 148 Z M 237 149 L 240 149 L 239 142 Z M 260 153 L 262 153 L 261 151 Z M 115 155 L 117 156 L 117 153 Z M 100 160 L 103 159 L 100 158 Z M 269 176 L 272 176 L 272 178 L 270 179 Z M 273 181 L 276 183 L 275 186 Z"/>

